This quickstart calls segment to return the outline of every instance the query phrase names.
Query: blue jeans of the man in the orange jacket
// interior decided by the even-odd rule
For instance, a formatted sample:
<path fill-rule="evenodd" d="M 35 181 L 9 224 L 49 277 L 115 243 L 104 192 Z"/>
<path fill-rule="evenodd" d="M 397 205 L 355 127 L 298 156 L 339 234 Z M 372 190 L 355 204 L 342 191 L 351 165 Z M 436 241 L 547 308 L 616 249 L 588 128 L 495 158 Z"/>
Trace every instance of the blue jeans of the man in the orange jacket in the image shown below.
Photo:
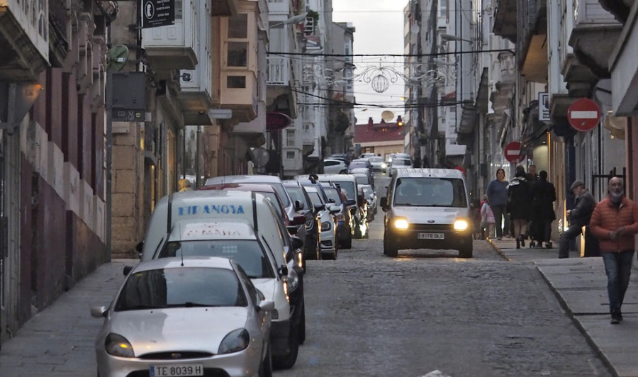
<path fill-rule="evenodd" d="M 620 313 L 622 300 L 625 298 L 629 276 L 632 274 L 634 251 L 602 252 L 607 273 L 607 293 L 609 295 L 610 313 Z"/>

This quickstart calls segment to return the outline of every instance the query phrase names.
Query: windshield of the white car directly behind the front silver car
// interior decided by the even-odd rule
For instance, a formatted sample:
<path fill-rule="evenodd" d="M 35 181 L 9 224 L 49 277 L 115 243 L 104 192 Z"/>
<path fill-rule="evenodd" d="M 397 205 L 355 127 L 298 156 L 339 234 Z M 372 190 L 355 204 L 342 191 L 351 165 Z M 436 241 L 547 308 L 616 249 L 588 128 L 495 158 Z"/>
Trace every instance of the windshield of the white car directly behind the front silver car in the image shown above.
<path fill-rule="evenodd" d="M 274 278 L 267 254 L 257 240 L 169 241 L 158 258 L 223 257 L 237 262 L 250 278 Z"/>

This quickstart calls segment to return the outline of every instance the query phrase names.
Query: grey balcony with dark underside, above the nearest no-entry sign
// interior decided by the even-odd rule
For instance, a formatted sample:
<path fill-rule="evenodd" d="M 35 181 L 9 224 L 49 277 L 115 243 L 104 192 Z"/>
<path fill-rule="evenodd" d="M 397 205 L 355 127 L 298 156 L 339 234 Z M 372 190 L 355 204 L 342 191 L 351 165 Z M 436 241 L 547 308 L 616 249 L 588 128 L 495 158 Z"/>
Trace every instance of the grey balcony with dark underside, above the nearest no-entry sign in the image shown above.
<path fill-rule="evenodd" d="M 622 24 L 598 0 L 578 1 L 569 37 L 577 64 L 585 65 L 598 78 L 609 78 L 609 57 L 621 32 Z"/>

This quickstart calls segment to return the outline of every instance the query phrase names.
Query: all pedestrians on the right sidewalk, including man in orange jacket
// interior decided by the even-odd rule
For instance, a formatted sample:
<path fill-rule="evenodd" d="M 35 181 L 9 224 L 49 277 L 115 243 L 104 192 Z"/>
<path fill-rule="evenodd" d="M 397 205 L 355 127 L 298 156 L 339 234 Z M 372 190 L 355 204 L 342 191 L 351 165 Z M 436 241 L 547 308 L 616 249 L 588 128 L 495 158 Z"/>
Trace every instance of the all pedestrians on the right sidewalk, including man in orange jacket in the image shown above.
<path fill-rule="evenodd" d="M 535 177 L 534 170 L 530 169 L 525 174 L 522 167 L 517 168 L 514 178 L 508 182 L 505 181 L 505 171 L 498 169 L 496 179 L 488 185 L 486 203 L 481 206 L 481 222 L 493 219 L 498 240 L 503 234 L 508 234 L 511 221 L 517 248 L 525 246 L 527 230 L 532 235 L 532 242 L 537 242 L 537 247 L 542 247 L 543 243 L 548 248 L 552 247 L 551 224 L 556 218 L 553 208 L 556 190 L 547 181 L 547 171 L 540 171 Z M 610 322 L 618 324 L 622 322 L 621 307 L 631 276 L 636 246 L 634 235 L 638 234 L 638 204 L 625 196 L 622 179 L 617 176 L 609 180 L 608 197 L 599 203 L 579 179 L 573 181 L 570 191 L 575 198 L 573 208 L 567 211 L 569 227 L 560 236 L 559 258 L 569 257 L 570 242 L 588 226 L 599 242 L 605 266 Z M 492 235 L 491 229 L 487 229 Z"/>

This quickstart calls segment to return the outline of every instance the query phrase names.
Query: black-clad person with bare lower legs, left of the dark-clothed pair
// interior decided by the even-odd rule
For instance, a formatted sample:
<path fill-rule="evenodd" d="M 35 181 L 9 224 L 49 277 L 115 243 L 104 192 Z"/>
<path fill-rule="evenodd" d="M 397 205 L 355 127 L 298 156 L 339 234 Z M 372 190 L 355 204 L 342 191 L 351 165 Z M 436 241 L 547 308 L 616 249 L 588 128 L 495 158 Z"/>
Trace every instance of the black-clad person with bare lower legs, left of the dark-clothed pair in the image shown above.
<path fill-rule="evenodd" d="M 530 184 L 527 183 L 525 169 L 517 167 L 514 179 L 508 184 L 507 212 L 512 220 L 516 248 L 525 247 L 527 237 L 527 223 L 530 221 Z"/>

